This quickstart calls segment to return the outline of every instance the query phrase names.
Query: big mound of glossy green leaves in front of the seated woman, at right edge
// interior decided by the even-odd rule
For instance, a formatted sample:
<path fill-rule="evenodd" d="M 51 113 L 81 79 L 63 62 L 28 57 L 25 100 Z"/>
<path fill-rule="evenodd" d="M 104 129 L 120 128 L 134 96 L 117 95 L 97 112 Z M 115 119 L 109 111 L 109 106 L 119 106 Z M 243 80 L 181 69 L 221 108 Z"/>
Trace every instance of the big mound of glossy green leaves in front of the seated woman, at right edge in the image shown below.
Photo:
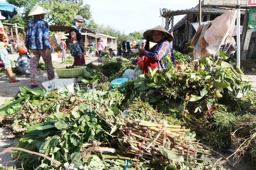
<path fill-rule="evenodd" d="M 200 118 L 202 113 L 211 114 L 215 109 L 255 113 L 256 93 L 242 70 L 226 62 L 215 69 L 177 72 L 177 67 L 170 65 L 157 74 L 155 68 L 148 75 L 137 76 L 126 87 L 134 98 L 149 101 L 172 117 Z"/>

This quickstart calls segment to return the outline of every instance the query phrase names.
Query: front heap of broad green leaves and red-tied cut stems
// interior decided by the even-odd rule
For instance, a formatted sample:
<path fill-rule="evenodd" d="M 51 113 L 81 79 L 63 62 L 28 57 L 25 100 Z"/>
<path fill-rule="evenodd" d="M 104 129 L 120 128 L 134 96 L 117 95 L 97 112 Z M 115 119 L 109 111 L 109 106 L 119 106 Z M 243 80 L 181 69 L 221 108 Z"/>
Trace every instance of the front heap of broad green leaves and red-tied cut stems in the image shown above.
<path fill-rule="evenodd" d="M 33 98 L 33 92 L 24 88 L 16 101 L 27 105 L 25 98 Z M 49 155 L 62 164 L 69 162 L 75 167 L 86 164 L 92 169 L 124 168 L 125 160 L 129 161 L 130 169 L 137 166 L 142 170 L 212 166 L 208 158 L 201 158 L 209 152 L 195 141 L 190 129 L 184 129 L 181 121 L 158 113 L 148 102 L 139 99 L 130 104 L 127 114 L 120 110 L 125 96 L 118 88 L 108 92 L 90 89 L 87 93 L 64 93 L 58 99 L 54 91 L 52 96 L 48 93 L 44 95 L 49 102 L 39 96 L 37 99 L 44 103 L 44 111 L 54 113 L 41 123 L 27 126 L 18 148 Z M 14 102 L 5 106 L 10 111 Z M 11 115 L 24 114 L 23 108 Z M 31 155 L 26 150 L 14 152 L 17 167 L 59 169 L 47 158 Z"/>

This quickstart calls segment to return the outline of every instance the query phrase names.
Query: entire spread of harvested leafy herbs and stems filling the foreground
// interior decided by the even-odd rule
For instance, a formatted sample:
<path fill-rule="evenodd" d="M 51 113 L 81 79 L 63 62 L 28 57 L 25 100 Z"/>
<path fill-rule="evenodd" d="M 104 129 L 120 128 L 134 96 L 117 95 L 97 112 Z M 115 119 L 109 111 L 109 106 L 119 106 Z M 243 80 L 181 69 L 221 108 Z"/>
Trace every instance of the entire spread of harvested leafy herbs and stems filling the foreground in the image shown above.
<path fill-rule="evenodd" d="M 0 106 L 1 126 L 22 136 L 9 148 L 16 168 L 226 169 L 226 159 L 214 158 L 205 143 L 255 158 L 256 92 L 242 70 L 222 61 L 213 70 L 196 71 L 189 57 L 176 56 L 186 68 L 167 61 L 162 72 L 155 68 L 118 88 L 108 82 L 114 76 L 110 69 L 116 62 L 122 62 L 114 67 L 118 74 L 133 67 L 120 58 L 94 68 L 107 73 L 96 89 L 58 93 L 20 86 Z M 239 119 L 227 116 L 229 124 L 220 123 L 221 115 Z"/>

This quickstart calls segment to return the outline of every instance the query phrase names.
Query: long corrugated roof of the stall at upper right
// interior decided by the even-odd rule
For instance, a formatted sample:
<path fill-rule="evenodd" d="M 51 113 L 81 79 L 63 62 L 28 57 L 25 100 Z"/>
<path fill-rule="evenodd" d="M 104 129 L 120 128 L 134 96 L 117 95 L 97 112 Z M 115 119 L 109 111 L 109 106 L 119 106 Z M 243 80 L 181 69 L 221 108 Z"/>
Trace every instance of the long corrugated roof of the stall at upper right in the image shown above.
<path fill-rule="evenodd" d="M 225 8 L 201 8 L 201 13 L 202 14 L 223 14 L 226 12 L 228 9 Z M 241 14 L 244 14 L 244 11 L 240 11 Z M 184 14 L 198 14 L 199 13 L 199 8 L 190 8 L 186 10 L 168 10 L 167 8 L 162 8 L 160 9 L 160 15 L 164 18 L 170 17 L 170 16 L 178 16 L 178 15 L 184 15 Z"/>

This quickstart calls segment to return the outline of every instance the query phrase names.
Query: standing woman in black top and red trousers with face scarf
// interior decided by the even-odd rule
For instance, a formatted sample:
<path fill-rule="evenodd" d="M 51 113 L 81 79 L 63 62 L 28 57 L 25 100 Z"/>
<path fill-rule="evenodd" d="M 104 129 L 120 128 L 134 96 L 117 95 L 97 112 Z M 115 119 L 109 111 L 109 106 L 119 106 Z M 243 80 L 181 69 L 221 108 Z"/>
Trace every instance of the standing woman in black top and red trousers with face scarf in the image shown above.
<path fill-rule="evenodd" d="M 78 42 L 79 46 L 80 46 L 80 50 L 81 50 L 81 55 L 80 53 L 75 53 L 75 51 L 77 51 L 78 49 L 74 49 L 72 47 L 76 47 L 75 45 L 72 45 L 71 43 L 71 47 L 70 47 L 70 53 L 72 54 L 72 56 L 74 57 L 74 66 L 81 66 L 82 64 L 85 64 L 85 56 L 84 56 L 84 38 L 81 34 L 81 30 L 82 30 L 82 24 L 84 22 L 84 18 L 82 18 L 82 16 L 80 15 L 76 15 L 73 18 L 73 26 L 70 28 L 69 30 L 69 39 L 72 40 L 74 42 Z M 80 52 L 79 50 L 79 52 Z"/>

